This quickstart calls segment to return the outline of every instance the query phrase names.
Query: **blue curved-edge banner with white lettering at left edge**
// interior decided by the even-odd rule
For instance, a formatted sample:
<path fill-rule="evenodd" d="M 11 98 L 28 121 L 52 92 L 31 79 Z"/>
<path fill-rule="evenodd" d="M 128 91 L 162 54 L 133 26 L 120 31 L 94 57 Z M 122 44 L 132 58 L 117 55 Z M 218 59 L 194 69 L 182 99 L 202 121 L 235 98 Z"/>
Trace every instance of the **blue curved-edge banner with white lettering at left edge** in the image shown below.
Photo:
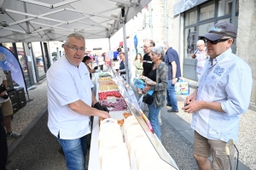
<path fill-rule="evenodd" d="M 26 84 L 20 63 L 15 58 L 15 54 L 3 46 L 0 46 L 0 67 L 3 71 L 11 71 L 12 79 L 19 84 L 20 87 L 23 87 L 26 92 Z"/>

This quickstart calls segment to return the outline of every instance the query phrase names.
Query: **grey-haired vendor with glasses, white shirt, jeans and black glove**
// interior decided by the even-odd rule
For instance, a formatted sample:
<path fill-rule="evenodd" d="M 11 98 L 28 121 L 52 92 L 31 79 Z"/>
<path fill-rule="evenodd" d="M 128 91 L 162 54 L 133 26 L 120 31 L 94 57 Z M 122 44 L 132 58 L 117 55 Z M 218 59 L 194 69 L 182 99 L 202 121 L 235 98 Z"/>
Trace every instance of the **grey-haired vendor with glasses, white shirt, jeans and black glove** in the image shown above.
<path fill-rule="evenodd" d="M 48 127 L 61 144 L 67 169 L 84 170 L 90 116 L 110 116 L 108 108 L 97 102 L 89 71 L 82 63 L 84 37 L 79 33 L 68 35 L 64 49 L 66 57 L 47 71 Z"/>

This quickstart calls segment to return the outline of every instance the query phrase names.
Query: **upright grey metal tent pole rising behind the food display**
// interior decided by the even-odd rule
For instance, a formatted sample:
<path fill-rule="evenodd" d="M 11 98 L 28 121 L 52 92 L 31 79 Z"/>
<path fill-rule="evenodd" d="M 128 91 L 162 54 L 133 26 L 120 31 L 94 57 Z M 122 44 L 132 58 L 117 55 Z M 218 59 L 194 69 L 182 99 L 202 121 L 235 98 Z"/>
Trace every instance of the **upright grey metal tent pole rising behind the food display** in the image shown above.
<path fill-rule="evenodd" d="M 122 13 L 122 24 L 123 24 L 123 37 L 124 37 L 124 45 L 125 45 L 125 77 L 128 84 L 130 84 L 130 72 L 129 72 L 129 65 L 128 65 L 128 50 L 127 50 L 127 42 L 126 42 L 126 28 L 125 28 L 125 8 L 121 8 Z"/>

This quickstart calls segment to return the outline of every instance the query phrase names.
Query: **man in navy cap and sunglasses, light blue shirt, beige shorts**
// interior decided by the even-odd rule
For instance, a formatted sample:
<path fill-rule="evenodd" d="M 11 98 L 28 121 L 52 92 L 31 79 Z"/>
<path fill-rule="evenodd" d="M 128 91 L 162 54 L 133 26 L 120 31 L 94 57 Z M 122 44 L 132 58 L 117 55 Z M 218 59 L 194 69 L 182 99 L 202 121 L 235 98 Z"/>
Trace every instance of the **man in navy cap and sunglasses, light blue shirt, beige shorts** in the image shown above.
<path fill-rule="evenodd" d="M 194 156 L 199 169 L 233 167 L 234 145 L 230 147 L 230 161 L 225 145 L 230 139 L 237 142 L 240 116 L 247 112 L 253 84 L 250 66 L 230 48 L 236 34 L 235 26 L 220 22 L 201 37 L 207 42 L 210 57 L 199 87 L 185 99 L 188 105 L 183 107 L 193 113 Z M 208 160 L 211 155 L 212 167 Z"/>

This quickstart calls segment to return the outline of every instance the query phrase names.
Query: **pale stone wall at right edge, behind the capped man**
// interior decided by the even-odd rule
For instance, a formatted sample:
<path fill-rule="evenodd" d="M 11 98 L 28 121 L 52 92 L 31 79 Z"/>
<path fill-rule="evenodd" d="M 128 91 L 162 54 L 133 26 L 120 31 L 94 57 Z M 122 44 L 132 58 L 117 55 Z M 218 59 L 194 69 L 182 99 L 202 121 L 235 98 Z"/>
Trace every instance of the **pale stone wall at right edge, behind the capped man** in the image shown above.
<path fill-rule="evenodd" d="M 256 103 L 256 1 L 240 0 L 236 54 L 251 66 L 253 91 L 251 102 Z"/>

